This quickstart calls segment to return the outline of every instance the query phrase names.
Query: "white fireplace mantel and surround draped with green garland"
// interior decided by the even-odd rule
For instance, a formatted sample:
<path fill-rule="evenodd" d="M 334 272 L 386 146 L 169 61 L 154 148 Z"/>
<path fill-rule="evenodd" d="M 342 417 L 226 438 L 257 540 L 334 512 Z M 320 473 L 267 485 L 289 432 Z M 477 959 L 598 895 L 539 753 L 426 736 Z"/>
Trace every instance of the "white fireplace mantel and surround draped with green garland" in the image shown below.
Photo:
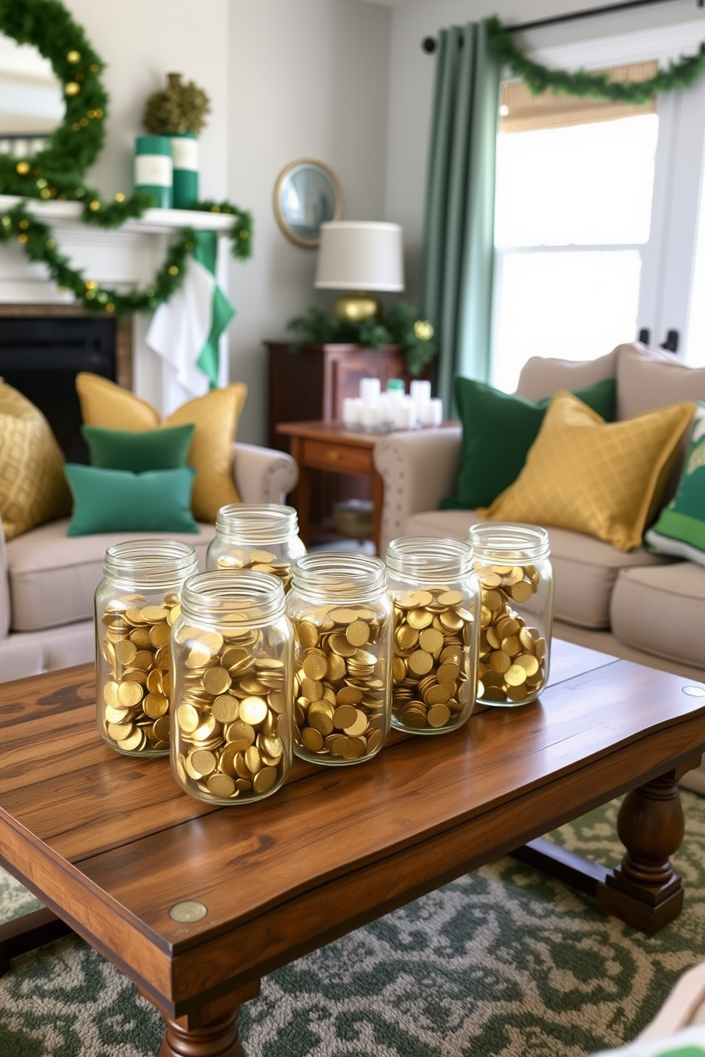
<path fill-rule="evenodd" d="M 0 194 L 0 211 L 16 205 L 19 198 Z M 129 220 L 119 228 L 105 230 L 80 222 L 81 206 L 77 202 L 26 202 L 26 208 L 54 230 L 62 253 L 87 278 L 127 291 L 146 286 L 166 256 L 169 237 L 181 227 L 193 227 L 226 235 L 233 218 L 222 214 L 188 209 L 147 209 L 138 220 Z M 227 245 L 219 239 L 217 281 L 227 291 Z M 80 314 L 73 295 L 61 294 L 42 264 L 27 260 L 21 246 L 14 242 L 0 245 L 0 317 L 3 315 L 70 315 Z M 135 314 L 131 331 L 129 366 L 123 365 L 120 381 L 131 378 L 137 395 L 163 408 L 166 365 L 145 342 L 150 322 L 148 314 Z M 123 327 L 123 330 L 126 328 Z M 224 371 L 227 356 L 222 356 Z M 227 377 L 222 377 L 225 384 Z"/>

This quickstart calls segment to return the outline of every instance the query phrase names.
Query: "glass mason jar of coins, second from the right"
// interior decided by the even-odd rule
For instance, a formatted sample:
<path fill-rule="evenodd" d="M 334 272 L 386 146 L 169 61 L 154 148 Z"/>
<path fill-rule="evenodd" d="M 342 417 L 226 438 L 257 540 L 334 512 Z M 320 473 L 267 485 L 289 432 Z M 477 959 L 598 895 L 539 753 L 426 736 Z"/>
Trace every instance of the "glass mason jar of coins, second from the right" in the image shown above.
<path fill-rule="evenodd" d="M 472 548 L 456 539 L 407 537 L 387 549 L 392 601 L 392 726 L 443 734 L 475 707 L 480 586 Z"/>

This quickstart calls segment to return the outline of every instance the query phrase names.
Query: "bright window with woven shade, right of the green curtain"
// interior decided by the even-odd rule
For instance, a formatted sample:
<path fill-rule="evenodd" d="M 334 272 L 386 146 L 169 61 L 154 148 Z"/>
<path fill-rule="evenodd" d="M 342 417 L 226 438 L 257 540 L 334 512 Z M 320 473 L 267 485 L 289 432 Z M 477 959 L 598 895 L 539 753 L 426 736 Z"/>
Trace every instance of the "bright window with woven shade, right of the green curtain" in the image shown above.
<path fill-rule="evenodd" d="M 653 105 L 533 101 L 516 85 L 503 109 L 491 382 L 512 391 L 528 356 L 589 359 L 636 337 L 658 117 Z"/>

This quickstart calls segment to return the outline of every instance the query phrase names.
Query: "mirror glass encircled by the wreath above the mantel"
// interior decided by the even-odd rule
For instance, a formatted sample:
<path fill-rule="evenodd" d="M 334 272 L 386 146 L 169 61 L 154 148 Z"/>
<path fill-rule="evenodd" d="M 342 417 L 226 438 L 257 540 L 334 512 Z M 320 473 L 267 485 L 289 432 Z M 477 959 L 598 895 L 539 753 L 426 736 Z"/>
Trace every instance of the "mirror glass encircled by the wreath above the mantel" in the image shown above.
<path fill-rule="evenodd" d="M 43 150 L 64 112 L 51 61 L 31 44 L 0 35 L 0 154 L 26 157 Z"/>

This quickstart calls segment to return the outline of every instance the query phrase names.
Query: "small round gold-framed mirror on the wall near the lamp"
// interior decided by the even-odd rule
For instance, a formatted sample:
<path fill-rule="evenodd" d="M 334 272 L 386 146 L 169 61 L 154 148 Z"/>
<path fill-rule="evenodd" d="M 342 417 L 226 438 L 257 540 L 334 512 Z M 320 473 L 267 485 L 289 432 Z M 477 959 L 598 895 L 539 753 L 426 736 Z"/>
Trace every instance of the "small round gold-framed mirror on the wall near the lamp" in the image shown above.
<path fill-rule="evenodd" d="M 315 248 L 320 225 L 342 217 L 342 191 L 337 177 L 322 162 L 301 157 L 279 173 L 274 212 L 287 239 Z"/>

